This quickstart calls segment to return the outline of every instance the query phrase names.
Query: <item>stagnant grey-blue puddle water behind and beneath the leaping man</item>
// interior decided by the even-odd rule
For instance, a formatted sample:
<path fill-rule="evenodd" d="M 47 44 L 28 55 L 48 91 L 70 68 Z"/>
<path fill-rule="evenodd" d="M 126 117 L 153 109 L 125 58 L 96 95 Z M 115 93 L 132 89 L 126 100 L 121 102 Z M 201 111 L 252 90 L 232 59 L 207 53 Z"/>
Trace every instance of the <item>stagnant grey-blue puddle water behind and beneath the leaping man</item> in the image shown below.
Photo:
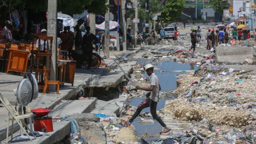
<path fill-rule="evenodd" d="M 140 59 L 138 60 L 138 63 L 145 65 L 148 64 L 148 60 Z M 154 70 L 154 72 L 159 78 L 162 88 L 161 92 L 169 92 L 176 89 L 176 76 L 182 73 L 172 72 L 173 70 L 194 70 L 194 68 L 196 68 L 194 64 L 182 64 L 172 60 L 157 62 L 154 66 L 159 68 L 159 70 Z M 162 70 L 164 70 L 164 72 L 161 72 Z M 147 74 L 144 74 L 144 76 L 149 77 Z M 130 105 L 138 106 L 144 99 L 145 97 L 132 98 Z M 166 99 L 160 99 L 160 102 L 158 102 L 157 105 L 157 110 L 164 108 L 165 101 Z M 150 112 L 150 109 L 145 108 L 142 112 Z M 152 119 L 152 117 L 147 119 Z M 139 121 L 140 118 L 136 118 L 132 123 L 136 128 L 137 136 L 146 132 L 148 136 L 144 139 L 147 142 L 157 141 L 160 137 L 159 132 L 162 130 L 162 126 L 157 121 L 155 121 L 154 124 L 140 124 Z"/>

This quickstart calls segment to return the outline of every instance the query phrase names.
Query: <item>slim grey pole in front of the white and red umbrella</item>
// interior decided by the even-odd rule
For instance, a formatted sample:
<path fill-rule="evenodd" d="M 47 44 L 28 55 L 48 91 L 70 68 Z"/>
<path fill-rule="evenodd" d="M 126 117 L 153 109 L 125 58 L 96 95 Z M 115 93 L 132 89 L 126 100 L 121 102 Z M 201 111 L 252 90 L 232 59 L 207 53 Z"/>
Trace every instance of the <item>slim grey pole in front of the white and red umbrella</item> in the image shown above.
<path fill-rule="evenodd" d="M 107 2 L 109 4 L 109 0 Z M 109 59 L 109 8 L 108 11 L 105 14 L 105 56 L 106 59 Z"/>

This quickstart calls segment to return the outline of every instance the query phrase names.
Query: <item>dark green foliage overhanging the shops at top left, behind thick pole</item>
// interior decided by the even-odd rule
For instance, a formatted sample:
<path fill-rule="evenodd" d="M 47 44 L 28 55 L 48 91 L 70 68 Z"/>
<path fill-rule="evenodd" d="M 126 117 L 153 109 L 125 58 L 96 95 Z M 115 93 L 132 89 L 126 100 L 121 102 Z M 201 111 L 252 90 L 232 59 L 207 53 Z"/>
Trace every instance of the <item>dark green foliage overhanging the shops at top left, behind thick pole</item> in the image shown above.
<path fill-rule="evenodd" d="M 0 5 L 6 0 L 0 0 Z M 93 14 L 105 14 L 109 8 L 106 5 L 108 0 L 58 0 L 58 12 L 64 14 L 81 14 L 84 10 L 88 10 Z M 34 11 L 47 10 L 48 0 L 8 0 L 6 5 L 13 9 L 16 7 L 24 9 L 32 9 Z"/>

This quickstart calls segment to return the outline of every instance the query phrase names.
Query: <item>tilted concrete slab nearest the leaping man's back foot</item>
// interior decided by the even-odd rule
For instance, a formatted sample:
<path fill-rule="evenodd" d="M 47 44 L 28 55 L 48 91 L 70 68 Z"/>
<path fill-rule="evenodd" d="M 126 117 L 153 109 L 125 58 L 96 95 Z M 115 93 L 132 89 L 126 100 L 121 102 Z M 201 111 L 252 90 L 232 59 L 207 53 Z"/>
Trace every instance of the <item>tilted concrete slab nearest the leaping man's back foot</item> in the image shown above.
<path fill-rule="evenodd" d="M 119 106 L 116 104 L 112 104 L 110 102 L 105 102 L 103 100 L 96 100 L 96 106 L 94 110 L 92 110 L 91 113 L 93 114 L 106 114 L 109 116 L 112 116 L 114 114 L 118 114 L 119 112 Z M 115 116 L 116 116 L 115 115 Z"/>

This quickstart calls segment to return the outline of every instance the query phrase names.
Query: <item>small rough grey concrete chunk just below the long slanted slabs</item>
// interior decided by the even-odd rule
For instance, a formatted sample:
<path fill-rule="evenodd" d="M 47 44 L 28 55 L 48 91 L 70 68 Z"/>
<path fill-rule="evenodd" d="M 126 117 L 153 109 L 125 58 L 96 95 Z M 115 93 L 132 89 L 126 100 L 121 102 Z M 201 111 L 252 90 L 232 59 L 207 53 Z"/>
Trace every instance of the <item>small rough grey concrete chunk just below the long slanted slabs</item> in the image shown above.
<path fill-rule="evenodd" d="M 100 122 L 100 118 L 91 113 L 72 114 L 69 118 L 73 118 L 77 122 Z"/>

